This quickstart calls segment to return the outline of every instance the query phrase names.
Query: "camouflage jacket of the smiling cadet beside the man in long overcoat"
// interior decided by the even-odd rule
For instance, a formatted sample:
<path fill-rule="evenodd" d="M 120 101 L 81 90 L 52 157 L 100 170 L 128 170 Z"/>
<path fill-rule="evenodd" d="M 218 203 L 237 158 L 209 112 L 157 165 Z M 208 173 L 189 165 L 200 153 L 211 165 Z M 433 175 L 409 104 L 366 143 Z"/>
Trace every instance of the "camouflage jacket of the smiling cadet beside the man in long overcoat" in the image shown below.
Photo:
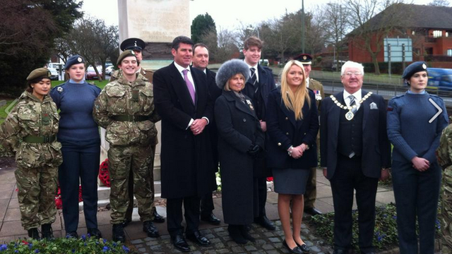
<path fill-rule="evenodd" d="M 113 116 L 148 116 L 147 121 L 114 121 Z M 138 74 L 130 83 L 123 75 L 108 83 L 94 102 L 94 120 L 106 128 L 110 145 L 151 145 L 160 116 L 154 108 L 153 86 Z"/>

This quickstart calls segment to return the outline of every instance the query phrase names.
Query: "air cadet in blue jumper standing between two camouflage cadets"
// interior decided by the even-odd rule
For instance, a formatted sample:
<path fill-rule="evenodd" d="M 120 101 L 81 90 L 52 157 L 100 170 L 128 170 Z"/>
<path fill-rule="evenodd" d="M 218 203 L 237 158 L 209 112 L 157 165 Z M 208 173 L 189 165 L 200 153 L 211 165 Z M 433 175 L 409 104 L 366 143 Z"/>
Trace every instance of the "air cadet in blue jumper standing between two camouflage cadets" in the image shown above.
<path fill-rule="evenodd" d="M 102 236 L 97 229 L 100 135 L 92 114 L 100 88 L 86 83 L 85 60 L 82 56 L 69 57 L 64 69 L 69 73 L 70 79 L 50 92 L 61 117 L 58 141 L 63 146 L 63 164 L 59 167 L 59 186 L 63 201 L 64 229 L 66 237 L 78 237 L 78 179 L 81 179 L 88 234 L 100 238 Z"/>

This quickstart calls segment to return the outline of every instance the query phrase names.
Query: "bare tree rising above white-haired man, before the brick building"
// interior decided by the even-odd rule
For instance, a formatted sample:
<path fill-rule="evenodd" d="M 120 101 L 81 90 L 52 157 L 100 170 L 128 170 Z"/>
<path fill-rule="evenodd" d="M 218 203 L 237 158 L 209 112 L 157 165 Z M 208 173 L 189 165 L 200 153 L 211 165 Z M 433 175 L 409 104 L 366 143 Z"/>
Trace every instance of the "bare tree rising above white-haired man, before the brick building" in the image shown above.
<path fill-rule="evenodd" d="M 377 56 L 383 49 L 383 39 L 388 35 L 406 34 L 403 20 L 410 16 L 410 8 L 408 5 L 401 4 L 402 1 L 349 0 L 345 2 L 345 8 L 350 11 L 348 22 L 355 29 L 349 35 L 349 48 L 352 45 L 369 52 L 377 75 L 380 74 Z"/>

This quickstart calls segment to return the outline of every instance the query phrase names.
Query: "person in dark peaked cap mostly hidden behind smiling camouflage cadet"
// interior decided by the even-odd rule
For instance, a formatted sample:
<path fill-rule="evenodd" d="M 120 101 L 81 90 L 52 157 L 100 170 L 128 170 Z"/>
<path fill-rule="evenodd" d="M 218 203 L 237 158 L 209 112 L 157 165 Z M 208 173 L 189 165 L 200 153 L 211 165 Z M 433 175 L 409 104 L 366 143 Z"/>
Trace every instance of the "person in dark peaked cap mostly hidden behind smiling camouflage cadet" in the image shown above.
<path fill-rule="evenodd" d="M 143 75 L 145 78 L 148 79 L 148 81 L 150 83 L 153 83 L 153 75 L 154 72 L 150 71 L 150 70 L 145 70 L 144 68 L 142 68 L 140 66 L 141 61 L 143 60 L 143 49 L 146 47 L 146 44 L 143 40 L 138 39 L 138 38 L 129 38 L 124 40 L 123 42 L 121 42 L 121 45 L 119 46 L 119 48 L 122 51 L 125 50 L 132 50 L 135 53 L 136 59 L 138 60 L 138 70 L 136 71 L 137 73 L 141 73 L 141 75 Z M 114 73 L 112 73 L 112 75 L 110 76 L 110 80 L 109 82 L 112 82 L 113 80 L 117 80 L 119 78 L 119 76 L 122 75 L 122 71 L 121 70 L 117 70 L 114 71 Z M 157 131 L 157 130 L 155 130 Z M 155 152 L 155 147 L 157 146 L 158 140 L 157 140 L 157 135 L 155 136 L 155 139 L 153 141 L 151 141 L 151 145 L 153 146 L 153 151 Z M 154 161 L 151 162 L 151 169 L 154 168 Z M 153 195 L 154 195 L 154 181 L 153 179 L 151 179 L 152 182 L 150 183 L 150 188 L 152 188 L 153 191 Z M 129 222 L 132 221 L 132 212 L 133 212 L 133 178 L 130 177 L 129 178 L 129 207 L 127 207 L 127 212 L 126 212 L 126 219 L 124 220 L 124 226 L 127 226 L 127 224 L 129 224 Z M 157 223 L 163 223 L 165 222 L 165 219 L 157 213 L 157 210 L 155 210 L 155 205 L 153 205 L 152 207 L 153 210 L 153 215 L 154 215 L 154 219 L 153 222 L 157 222 Z"/>

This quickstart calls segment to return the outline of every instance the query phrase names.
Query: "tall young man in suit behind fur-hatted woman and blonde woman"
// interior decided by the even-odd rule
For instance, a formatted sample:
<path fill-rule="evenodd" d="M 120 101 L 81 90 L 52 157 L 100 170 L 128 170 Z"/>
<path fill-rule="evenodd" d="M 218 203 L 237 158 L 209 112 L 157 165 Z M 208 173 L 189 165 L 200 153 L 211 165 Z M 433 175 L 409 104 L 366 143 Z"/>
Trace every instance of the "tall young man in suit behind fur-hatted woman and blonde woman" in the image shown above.
<path fill-rule="evenodd" d="M 270 68 L 261 66 L 258 62 L 261 59 L 262 41 L 258 37 L 249 37 L 244 41 L 243 54 L 245 63 L 250 68 L 250 78 L 246 81 L 245 88 L 242 90 L 244 95 L 251 98 L 256 108 L 256 115 L 261 121 L 262 131 L 267 131 L 266 126 L 266 104 L 268 94 L 275 88 L 275 78 Z M 256 166 L 257 165 L 257 166 Z M 258 217 L 254 222 L 260 224 L 268 230 L 275 230 L 275 224 L 266 216 L 267 202 L 267 177 L 271 176 L 271 169 L 266 167 L 264 159 L 255 164 L 254 177 L 258 181 L 258 189 L 254 193 L 255 204 L 258 210 Z"/>

